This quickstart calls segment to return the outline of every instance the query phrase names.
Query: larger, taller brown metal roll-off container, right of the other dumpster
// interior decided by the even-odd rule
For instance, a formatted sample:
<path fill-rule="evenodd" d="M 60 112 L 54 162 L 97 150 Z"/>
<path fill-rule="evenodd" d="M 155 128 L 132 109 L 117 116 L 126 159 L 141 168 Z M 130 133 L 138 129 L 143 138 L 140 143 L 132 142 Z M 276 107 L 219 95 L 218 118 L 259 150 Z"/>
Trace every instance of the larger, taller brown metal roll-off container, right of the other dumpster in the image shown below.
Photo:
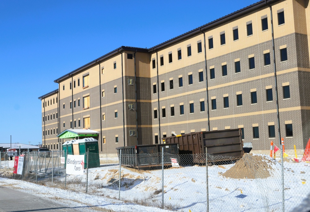
<path fill-rule="evenodd" d="M 208 154 L 242 158 L 243 142 L 240 129 L 216 130 L 196 132 L 162 138 L 166 144 L 178 143 L 180 154 L 193 154 L 193 162 L 204 163 L 198 155 L 204 154 L 207 147 Z M 215 160 L 219 160 L 217 157 Z"/>

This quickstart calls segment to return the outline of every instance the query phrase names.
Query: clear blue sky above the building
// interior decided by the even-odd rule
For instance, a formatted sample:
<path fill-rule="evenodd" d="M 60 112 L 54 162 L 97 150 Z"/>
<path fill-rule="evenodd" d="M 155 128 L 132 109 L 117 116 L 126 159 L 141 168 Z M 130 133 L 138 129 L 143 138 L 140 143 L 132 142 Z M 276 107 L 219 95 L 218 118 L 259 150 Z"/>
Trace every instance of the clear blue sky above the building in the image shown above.
<path fill-rule="evenodd" d="M 54 80 L 120 47 L 150 48 L 258 0 L 0 1 L 1 143 L 42 141 Z M 189 3 L 191 2 L 191 3 Z"/>

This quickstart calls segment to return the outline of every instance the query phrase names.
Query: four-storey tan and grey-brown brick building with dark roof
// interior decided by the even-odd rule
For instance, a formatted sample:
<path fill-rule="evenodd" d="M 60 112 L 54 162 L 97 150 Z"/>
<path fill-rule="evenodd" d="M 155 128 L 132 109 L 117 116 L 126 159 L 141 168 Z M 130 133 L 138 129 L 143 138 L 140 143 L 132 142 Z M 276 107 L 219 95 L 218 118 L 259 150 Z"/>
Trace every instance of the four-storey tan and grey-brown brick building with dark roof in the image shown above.
<path fill-rule="evenodd" d="M 122 46 L 56 79 L 42 144 L 98 132 L 101 152 L 162 137 L 241 128 L 253 150 L 310 137 L 309 0 L 263 0 L 149 49 Z M 277 83 L 277 84 L 276 84 Z M 279 125 L 278 125 L 279 120 Z M 67 139 L 69 140 L 69 139 Z"/>

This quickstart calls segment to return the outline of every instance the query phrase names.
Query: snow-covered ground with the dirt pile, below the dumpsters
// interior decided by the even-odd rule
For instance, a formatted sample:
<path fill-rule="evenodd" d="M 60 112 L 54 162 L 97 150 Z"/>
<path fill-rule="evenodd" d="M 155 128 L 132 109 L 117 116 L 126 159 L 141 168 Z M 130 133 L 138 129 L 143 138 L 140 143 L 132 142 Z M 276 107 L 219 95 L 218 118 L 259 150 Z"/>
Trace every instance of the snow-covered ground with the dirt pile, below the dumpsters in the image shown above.
<path fill-rule="evenodd" d="M 280 159 L 273 160 L 264 155 L 245 156 L 236 164 L 208 166 L 209 210 L 282 211 Z M 310 165 L 286 158 L 283 171 L 285 211 L 292 211 L 310 192 Z M 86 174 L 67 176 L 67 189 L 80 191 L 77 193 L 24 181 L 16 183 L 6 178 L 0 178 L 0 185 L 9 185 L 35 195 L 39 195 L 36 194 L 39 191 L 46 198 L 56 198 L 57 202 L 64 204 L 75 198 L 74 204 L 84 202 L 115 211 L 161 211 L 158 208 L 162 204 L 161 169 L 137 170 L 122 167 L 120 194 L 119 174 L 117 165 L 89 169 L 88 194 L 85 194 Z M 206 211 L 206 180 L 206 166 L 164 169 L 165 209 Z M 51 186 L 51 179 L 40 178 L 38 184 Z M 54 186 L 64 187 L 64 177 L 55 176 Z M 123 201 L 117 200 L 119 195 Z M 310 205 L 308 207 L 304 206 L 304 211 L 310 210 Z"/>

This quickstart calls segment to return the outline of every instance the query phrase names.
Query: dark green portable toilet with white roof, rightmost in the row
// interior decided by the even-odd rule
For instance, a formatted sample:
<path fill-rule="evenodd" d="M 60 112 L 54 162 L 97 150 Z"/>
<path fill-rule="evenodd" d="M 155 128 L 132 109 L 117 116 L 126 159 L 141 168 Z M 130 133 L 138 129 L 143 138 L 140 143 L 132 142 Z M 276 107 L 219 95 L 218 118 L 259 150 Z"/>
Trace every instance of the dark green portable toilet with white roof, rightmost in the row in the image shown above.
<path fill-rule="evenodd" d="M 78 144 L 79 147 L 79 155 L 85 155 L 84 168 L 87 168 L 87 163 L 88 168 L 100 167 L 98 140 L 96 140 L 95 138 L 83 138 L 76 140 L 74 142 L 74 145 L 76 144 Z M 87 149 L 89 150 L 88 161 L 87 156 L 85 154 L 87 153 Z"/>

